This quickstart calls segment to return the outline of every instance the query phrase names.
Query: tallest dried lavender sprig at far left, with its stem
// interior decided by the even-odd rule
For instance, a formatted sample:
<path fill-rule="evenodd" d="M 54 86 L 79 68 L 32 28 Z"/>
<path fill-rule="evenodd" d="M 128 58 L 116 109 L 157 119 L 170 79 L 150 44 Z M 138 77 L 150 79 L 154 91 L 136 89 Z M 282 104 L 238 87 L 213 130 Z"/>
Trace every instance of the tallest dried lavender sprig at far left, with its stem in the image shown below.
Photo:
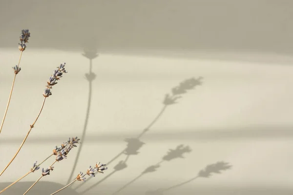
<path fill-rule="evenodd" d="M 15 83 L 15 78 L 16 78 L 16 75 L 21 71 L 21 68 L 20 68 L 21 56 L 22 56 L 22 52 L 26 48 L 26 45 L 24 43 L 28 42 L 29 37 L 30 37 L 30 32 L 29 32 L 28 29 L 24 29 L 24 30 L 21 31 L 21 36 L 20 36 L 21 45 L 19 46 L 19 49 L 21 50 L 21 55 L 20 55 L 18 64 L 15 67 L 13 67 L 13 69 L 14 69 L 14 78 L 13 78 L 13 81 L 12 81 L 12 86 L 11 86 L 8 102 L 7 102 L 7 105 L 6 105 L 6 109 L 5 109 L 5 112 L 4 112 L 4 116 L 3 116 L 3 119 L 2 119 L 2 122 L 1 122 L 0 134 L 1 134 L 3 124 L 4 124 L 4 121 L 5 121 L 5 118 L 6 118 L 6 115 L 7 115 L 7 111 L 8 111 L 8 108 L 9 108 L 10 99 L 11 99 L 11 96 L 12 96 L 13 87 L 14 87 L 14 83 Z"/>

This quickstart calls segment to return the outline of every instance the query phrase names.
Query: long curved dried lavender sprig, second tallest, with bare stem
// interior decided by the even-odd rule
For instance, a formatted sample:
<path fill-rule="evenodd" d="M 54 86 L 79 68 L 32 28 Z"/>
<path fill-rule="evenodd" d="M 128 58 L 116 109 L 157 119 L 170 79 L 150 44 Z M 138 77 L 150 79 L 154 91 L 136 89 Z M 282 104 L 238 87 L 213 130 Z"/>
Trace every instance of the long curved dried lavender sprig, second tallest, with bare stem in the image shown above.
<path fill-rule="evenodd" d="M 65 63 L 61 64 L 59 67 L 57 67 L 58 69 L 54 71 L 54 75 L 52 75 L 52 77 L 56 78 L 56 79 L 60 79 L 61 75 L 63 73 L 67 73 L 64 69 L 64 66 L 65 66 Z M 62 73 L 60 75 L 60 73 Z M 5 170 L 9 167 L 9 165 L 12 163 L 12 161 L 15 159 L 15 157 L 18 155 L 18 153 L 20 152 L 25 140 L 27 139 L 29 133 L 31 132 L 32 128 L 34 128 L 34 125 L 35 123 L 37 122 L 38 118 L 40 117 L 41 113 L 42 113 L 42 109 L 44 107 L 44 104 L 45 104 L 45 100 L 46 98 L 48 98 L 50 95 L 52 95 L 52 93 L 50 92 L 50 88 L 51 86 L 48 84 L 46 86 L 47 88 L 45 89 L 44 93 L 43 93 L 43 96 L 44 96 L 44 99 L 43 99 L 43 102 L 42 102 L 42 107 L 41 107 L 41 110 L 37 116 L 37 118 L 35 119 L 35 121 L 33 122 L 33 124 L 30 125 L 30 129 L 29 131 L 27 132 L 26 136 L 24 137 L 22 143 L 21 143 L 21 146 L 19 147 L 18 151 L 16 152 L 16 154 L 13 156 L 13 158 L 10 160 L 10 162 L 6 165 L 6 167 L 3 169 L 3 171 L 0 173 L 0 176 L 5 172 Z M 10 100 L 9 100 L 10 101 Z"/>

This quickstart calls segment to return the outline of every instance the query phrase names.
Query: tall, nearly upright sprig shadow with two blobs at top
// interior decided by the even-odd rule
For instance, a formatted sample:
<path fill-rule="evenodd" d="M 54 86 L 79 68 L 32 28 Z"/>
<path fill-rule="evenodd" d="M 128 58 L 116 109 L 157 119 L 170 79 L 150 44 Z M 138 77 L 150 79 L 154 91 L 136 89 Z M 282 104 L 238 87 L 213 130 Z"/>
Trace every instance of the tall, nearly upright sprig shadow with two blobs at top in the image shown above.
<path fill-rule="evenodd" d="M 88 81 L 88 98 L 87 98 L 87 107 L 86 107 L 86 114 L 85 114 L 85 120 L 84 120 L 84 128 L 82 136 L 80 137 L 81 143 L 84 142 L 84 138 L 86 136 L 86 129 L 89 119 L 89 113 L 90 113 L 90 106 L 91 106 L 91 100 L 92 100 L 92 82 L 96 78 L 96 74 L 92 72 L 92 61 L 93 59 L 98 57 L 98 51 L 95 45 L 87 44 L 87 47 L 84 48 L 84 53 L 82 54 L 85 58 L 89 59 L 89 71 L 85 74 L 85 79 Z M 80 147 L 78 147 L 78 152 L 75 157 L 75 161 L 73 164 L 73 168 L 71 170 L 71 174 L 68 177 L 67 183 L 73 180 L 73 174 L 75 172 L 76 166 L 78 164 L 78 159 L 80 157 L 81 151 L 83 148 L 83 144 L 80 144 Z"/>

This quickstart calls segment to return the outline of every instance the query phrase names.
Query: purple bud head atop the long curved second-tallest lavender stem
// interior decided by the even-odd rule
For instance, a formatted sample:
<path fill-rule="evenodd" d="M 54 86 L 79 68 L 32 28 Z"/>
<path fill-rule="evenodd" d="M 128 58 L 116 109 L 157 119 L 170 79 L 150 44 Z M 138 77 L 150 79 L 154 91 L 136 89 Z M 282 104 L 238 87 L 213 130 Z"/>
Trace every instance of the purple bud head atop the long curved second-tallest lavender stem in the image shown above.
<path fill-rule="evenodd" d="M 49 97 L 52 95 L 51 90 L 53 85 L 56 85 L 58 82 L 57 80 L 59 80 L 60 78 L 62 78 L 63 73 L 67 73 L 67 71 L 65 70 L 65 62 L 63 64 L 60 64 L 56 70 L 53 71 L 53 75 L 51 75 L 51 77 L 47 80 L 47 85 L 46 88 L 44 89 L 43 92 L 43 96 L 45 98 Z"/>

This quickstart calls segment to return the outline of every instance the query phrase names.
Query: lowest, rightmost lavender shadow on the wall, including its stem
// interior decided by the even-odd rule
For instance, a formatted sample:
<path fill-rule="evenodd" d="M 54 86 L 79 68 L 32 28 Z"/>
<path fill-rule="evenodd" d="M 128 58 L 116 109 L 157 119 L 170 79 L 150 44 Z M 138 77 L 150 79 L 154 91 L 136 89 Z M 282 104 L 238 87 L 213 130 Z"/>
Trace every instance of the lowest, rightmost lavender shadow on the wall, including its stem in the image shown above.
<path fill-rule="evenodd" d="M 199 173 L 197 174 L 197 176 L 195 176 L 191 179 L 188 179 L 187 181 L 184 181 L 182 183 L 173 185 L 173 186 L 165 188 L 165 189 L 158 189 L 156 191 L 148 191 L 148 192 L 146 192 L 146 195 L 164 195 L 164 193 L 166 191 L 169 191 L 173 188 L 178 188 L 180 186 L 183 186 L 183 185 L 185 185 L 185 184 L 187 184 L 187 183 L 189 183 L 199 177 L 209 178 L 212 173 L 221 174 L 222 173 L 221 171 L 226 171 L 226 170 L 230 169 L 231 167 L 232 166 L 229 165 L 228 162 L 224 162 L 224 161 L 219 161 L 214 164 L 209 164 L 209 165 L 207 165 L 207 167 L 205 169 L 200 170 Z"/>

